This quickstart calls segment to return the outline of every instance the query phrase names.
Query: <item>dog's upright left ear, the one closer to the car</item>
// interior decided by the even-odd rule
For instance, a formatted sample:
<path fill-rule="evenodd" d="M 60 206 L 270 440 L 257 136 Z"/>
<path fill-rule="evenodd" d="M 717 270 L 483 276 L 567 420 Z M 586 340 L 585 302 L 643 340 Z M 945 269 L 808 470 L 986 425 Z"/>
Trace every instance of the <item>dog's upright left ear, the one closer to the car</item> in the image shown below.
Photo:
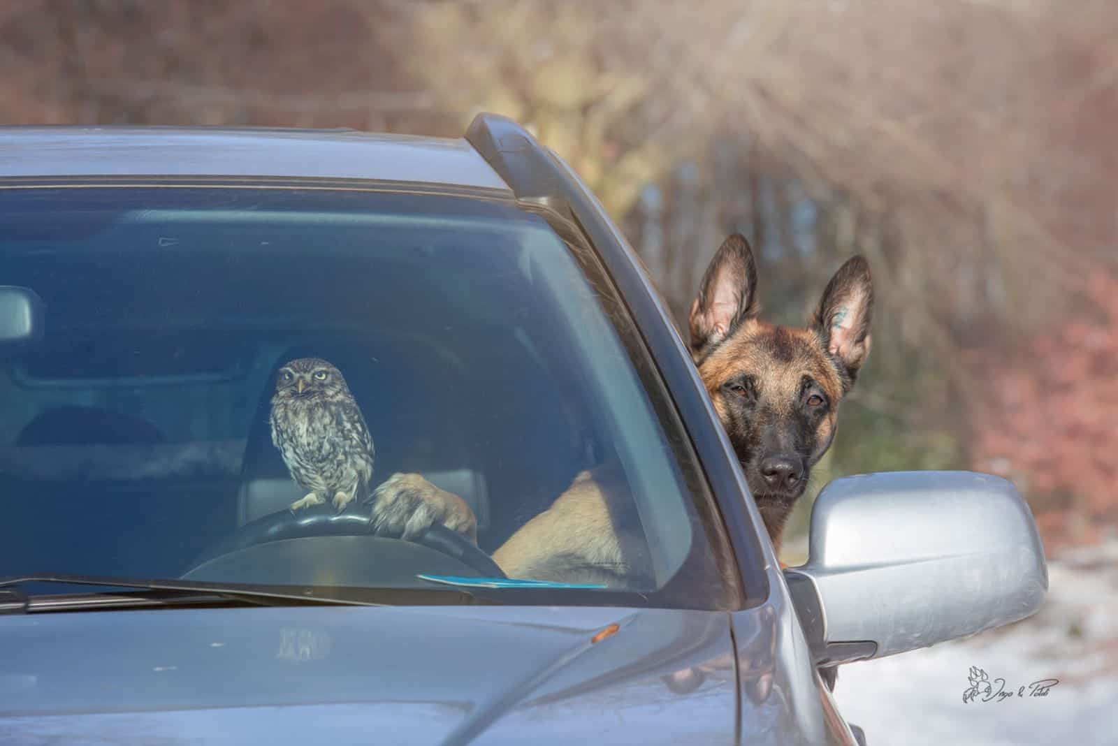
<path fill-rule="evenodd" d="M 757 265 L 741 233 L 722 241 L 691 304 L 691 353 L 698 356 L 757 315 Z"/>

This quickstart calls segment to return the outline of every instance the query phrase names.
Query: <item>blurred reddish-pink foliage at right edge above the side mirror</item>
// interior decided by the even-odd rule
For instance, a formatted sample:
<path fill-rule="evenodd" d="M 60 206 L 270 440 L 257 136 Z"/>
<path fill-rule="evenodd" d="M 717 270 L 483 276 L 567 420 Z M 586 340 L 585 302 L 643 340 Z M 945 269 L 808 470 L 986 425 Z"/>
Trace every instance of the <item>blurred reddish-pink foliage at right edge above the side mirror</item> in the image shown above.
<path fill-rule="evenodd" d="M 1050 549 L 1118 523 L 1118 277 L 1093 274 L 1083 295 L 1100 313 L 975 360 L 975 468 L 1029 495 Z"/>

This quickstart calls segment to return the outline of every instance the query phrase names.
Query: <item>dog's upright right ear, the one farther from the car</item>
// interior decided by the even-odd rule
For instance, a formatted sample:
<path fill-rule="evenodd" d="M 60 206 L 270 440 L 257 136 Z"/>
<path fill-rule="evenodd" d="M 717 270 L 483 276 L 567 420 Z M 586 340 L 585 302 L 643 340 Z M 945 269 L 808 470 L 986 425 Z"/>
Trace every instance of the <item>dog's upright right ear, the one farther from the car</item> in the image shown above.
<path fill-rule="evenodd" d="M 870 322 L 873 318 L 873 280 L 863 257 L 846 260 L 827 283 L 812 327 L 846 376 L 845 386 L 854 385 L 858 371 L 870 354 Z"/>

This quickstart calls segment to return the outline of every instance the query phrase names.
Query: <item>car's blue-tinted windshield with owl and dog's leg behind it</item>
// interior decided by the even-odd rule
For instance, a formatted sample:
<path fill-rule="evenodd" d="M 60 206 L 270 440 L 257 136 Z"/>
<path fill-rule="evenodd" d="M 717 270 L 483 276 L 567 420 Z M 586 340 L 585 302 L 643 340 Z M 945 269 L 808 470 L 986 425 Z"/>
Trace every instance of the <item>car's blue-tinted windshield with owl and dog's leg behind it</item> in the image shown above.
<path fill-rule="evenodd" d="M 0 212 L 0 286 L 41 300 L 0 341 L 0 575 L 501 585 L 475 537 L 525 603 L 736 593 L 624 304 L 546 212 L 237 185 L 15 188 Z M 274 432 L 278 390 L 302 409 Z M 363 458 L 340 505 L 326 471 Z M 397 507 L 464 503 L 473 536 L 394 536 L 394 475 Z"/>

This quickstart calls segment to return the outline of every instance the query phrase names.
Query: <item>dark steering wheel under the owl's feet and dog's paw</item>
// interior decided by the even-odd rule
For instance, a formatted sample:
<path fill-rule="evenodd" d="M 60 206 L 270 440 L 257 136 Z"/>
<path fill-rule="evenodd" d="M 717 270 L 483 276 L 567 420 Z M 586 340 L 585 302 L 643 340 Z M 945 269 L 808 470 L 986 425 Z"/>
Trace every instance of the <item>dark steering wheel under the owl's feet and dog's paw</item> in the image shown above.
<path fill-rule="evenodd" d="M 215 557 L 246 549 L 257 544 L 278 542 L 287 538 L 304 538 L 309 536 L 385 536 L 372 528 L 371 506 L 351 506 L 344 513 L 334 513 L 329 505 L 316 505 L 295 510 L 280 510 L 252 523 L 247 523 L 220 542 L 202 552 L 193 562 L 197 567 Z M 400 539 L 404 541 L 404 539 Z M 493 558 L 471 544 L 464 536 L 446 526 L 434 524 L 418 536 L 408 539 L 454 557 L 481 573 L 482 577 L 504 578 Z"/>

